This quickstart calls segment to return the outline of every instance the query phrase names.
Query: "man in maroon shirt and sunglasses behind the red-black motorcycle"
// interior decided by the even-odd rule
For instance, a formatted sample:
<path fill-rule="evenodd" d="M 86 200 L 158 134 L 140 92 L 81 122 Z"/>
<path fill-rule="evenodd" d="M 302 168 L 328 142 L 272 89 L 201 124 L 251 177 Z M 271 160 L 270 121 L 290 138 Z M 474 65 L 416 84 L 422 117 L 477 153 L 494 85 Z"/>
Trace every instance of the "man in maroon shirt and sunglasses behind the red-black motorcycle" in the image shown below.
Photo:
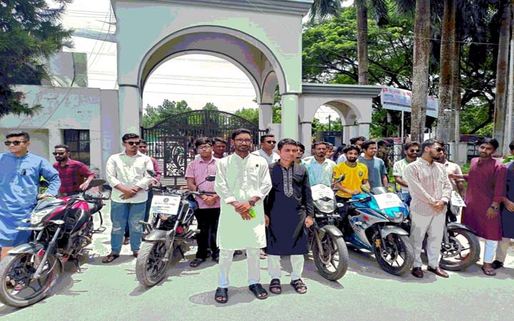
<path fill-rule="evenodd" d="M 95 175 L 84 163 L 70 158 L 69 146 L 56 145 L 52 154 L 56 158 L 54 168 L 61 179 L 59 197 L 76 195 L 89 187 L 89 183 L 95 178 Z"/>

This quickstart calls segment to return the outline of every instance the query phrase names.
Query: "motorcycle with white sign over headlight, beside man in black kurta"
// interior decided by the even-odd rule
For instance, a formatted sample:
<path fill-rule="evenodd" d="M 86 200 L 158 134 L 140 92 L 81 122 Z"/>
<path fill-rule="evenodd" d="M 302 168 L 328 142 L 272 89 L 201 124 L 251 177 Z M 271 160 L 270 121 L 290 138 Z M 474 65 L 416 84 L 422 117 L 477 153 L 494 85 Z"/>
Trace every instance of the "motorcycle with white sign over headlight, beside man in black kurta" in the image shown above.
<path fill-rule="evenodd" d="M 344 179 L 342 175 L 335 183 Z M 335 184 L 334 183 L 334 184 Z M 311 187 L 314 224 L 309 229 L 310 248 L 318 273 L 327 280 L 339 280 L 348 270 L 348 248 L 336 225 L 341 220 L 333 190 L 326 185 Z"/>

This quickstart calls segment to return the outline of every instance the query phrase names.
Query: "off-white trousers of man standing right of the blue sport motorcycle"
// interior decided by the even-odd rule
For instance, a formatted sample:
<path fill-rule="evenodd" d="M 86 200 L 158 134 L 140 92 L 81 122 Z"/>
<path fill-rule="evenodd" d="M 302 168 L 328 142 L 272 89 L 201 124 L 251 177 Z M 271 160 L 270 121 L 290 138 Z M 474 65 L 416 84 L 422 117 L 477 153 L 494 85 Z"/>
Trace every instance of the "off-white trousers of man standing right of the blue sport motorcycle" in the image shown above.
<path fill-rule="evenodd" d="M 423 250 L 425 235 L 428 235 L 425 248 L 428 257 L 428 266 L 433 268 L 438 267 L 446 215 L 426 216 L 410 212 L 410 219 L 412 220 L 410 244 L 414 250 L 413 267 L 421 267 L 421 265 L 423 265 L 421 262 L 421 251 Z"/>

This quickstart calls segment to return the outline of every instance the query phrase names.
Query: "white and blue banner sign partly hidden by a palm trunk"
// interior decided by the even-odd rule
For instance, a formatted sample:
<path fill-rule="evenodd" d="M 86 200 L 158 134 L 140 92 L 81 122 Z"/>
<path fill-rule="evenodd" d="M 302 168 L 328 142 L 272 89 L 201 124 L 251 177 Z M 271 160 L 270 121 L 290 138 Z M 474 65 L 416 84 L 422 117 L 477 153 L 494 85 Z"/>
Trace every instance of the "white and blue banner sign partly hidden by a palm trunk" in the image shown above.
<path fill-rule="evenodd" d="M 406 111 L 410 113 L 412 104 L 412 93 L 404 89 L 384 87 L 381 92 L 382 107 L 392 111 Z M 438 117 L 438 100 L 434 96 L 428 96 L 427 116 Z"/>

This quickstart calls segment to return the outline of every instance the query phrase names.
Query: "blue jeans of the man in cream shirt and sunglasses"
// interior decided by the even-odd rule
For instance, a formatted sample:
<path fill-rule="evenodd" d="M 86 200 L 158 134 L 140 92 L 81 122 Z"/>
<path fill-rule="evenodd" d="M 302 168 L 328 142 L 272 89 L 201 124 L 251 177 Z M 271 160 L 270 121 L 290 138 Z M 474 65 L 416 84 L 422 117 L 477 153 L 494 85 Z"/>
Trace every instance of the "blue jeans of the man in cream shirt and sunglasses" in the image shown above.
<path fill-rule="evenodd" d="M 131 235 L 131 250 L 138 251 L 141 245 L 143 227 L 139 221 L 144 218 L 146 202 L 142 203 L 116 203 L 111 202 L 111 251 L 121 252 L 121 245 L 125 233 L 125 227 L 129 224 Z"/>

